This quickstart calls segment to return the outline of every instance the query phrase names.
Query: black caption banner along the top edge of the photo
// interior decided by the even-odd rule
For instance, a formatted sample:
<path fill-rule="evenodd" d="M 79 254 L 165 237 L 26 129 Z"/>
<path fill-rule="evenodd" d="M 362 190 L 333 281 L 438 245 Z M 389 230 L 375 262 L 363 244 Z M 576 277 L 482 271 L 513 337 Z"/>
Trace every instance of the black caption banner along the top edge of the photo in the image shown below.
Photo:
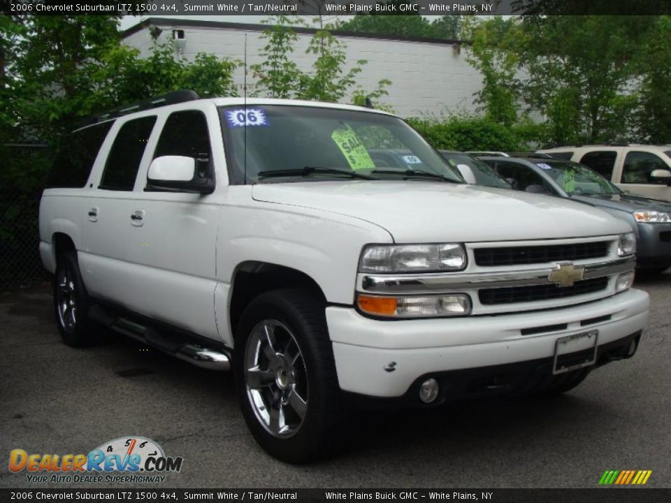
<path fill-rule="evenodd" d="M 8 0 L 11 15 L 650 15 L 669 0 Z"/>

